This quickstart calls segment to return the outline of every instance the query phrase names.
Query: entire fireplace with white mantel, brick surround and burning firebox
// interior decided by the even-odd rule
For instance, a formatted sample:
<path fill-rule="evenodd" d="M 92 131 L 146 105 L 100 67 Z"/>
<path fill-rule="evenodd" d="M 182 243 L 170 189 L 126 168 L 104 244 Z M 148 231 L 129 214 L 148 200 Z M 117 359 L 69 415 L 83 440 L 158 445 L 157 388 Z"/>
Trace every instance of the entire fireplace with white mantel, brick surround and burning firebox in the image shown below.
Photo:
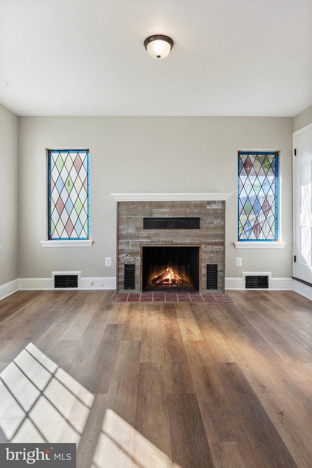
<path fill-rule="evenodd" d="M 231 194 L 112 195 L 118 293 L 224 292 L 225 200 Z"/>

